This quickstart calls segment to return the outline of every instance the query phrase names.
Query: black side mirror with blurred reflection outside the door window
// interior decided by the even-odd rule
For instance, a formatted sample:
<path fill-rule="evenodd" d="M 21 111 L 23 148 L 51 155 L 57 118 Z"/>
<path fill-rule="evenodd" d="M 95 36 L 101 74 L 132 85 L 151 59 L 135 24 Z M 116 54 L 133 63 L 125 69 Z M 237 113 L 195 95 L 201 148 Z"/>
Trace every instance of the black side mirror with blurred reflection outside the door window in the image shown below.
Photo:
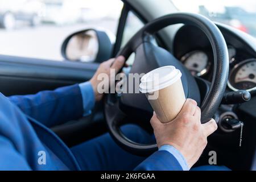
<path fill-rule="evenodd" d="M 112 47 L 106 32 L 88 29 L 69 35 L 61 46 L 61 55 L 68 61 L 101 63 L 110 58 Z"/>

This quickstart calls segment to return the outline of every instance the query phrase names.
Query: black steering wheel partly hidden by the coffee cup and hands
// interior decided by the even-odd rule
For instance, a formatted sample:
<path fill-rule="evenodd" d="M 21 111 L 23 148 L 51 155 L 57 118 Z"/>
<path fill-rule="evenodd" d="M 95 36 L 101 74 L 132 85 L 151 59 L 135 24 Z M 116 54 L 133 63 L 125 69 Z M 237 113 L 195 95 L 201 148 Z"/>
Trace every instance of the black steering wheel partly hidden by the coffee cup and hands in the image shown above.
<path fill-rule="evenodd" d="M 196 26 L 208 36 L 213 49 L 214 64 L 213 77 L 209 92 L 201 103 L 201 123 L 208 122 L 217 111 L 222 96 L 226 89 L 229 72 L 228 48 L 225 39 L 217 26 L 209 19 L 198 14 L 175 13 L 162 16 L 147 23 L 129 40 L 118 55 L 126 59 L 135 52 L 134 63 L 130 73 L 147 73 L 152 69 L 165 65 L 174 65 L 182 73 L 184 93 L 187 98 L 192 98 L 200 103 L 199 86 L 187 68 L 171 55 L 166 49 L 152 43 L 152 35 L 164 27 L 172 24 L 183 23 Z M 191 35 L 193 36 L 193 35 Z M 133 79 L 127 78 L 127 85 Z M 128 89 L 127 89 L 128 90 Z M 137 123 L 145 127 L 150 126 L 152 107 L 146 96 L 142 93 L 108 93 L 104 100 L 104 113 L 109 133 L 126 151 L 135 155 L 148 155 L 157 150 L 155 144 L 135 143 L 123 135 L 120 126 L 124 123 Z M 151 129 L 152 130 L 152 129 Z"/>

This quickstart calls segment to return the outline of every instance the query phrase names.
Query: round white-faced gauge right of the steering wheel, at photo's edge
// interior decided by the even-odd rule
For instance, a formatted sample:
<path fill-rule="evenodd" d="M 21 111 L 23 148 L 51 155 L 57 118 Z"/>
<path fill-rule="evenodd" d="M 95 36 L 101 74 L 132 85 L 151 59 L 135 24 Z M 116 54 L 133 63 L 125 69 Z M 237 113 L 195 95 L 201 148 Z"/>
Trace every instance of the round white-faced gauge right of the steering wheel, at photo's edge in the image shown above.
<path fill-rule="evenodd" d="M 248 59 L 238 63 L 230 71 L 228 86 L 232 90 L 256 89 L 256 59 Z"/>

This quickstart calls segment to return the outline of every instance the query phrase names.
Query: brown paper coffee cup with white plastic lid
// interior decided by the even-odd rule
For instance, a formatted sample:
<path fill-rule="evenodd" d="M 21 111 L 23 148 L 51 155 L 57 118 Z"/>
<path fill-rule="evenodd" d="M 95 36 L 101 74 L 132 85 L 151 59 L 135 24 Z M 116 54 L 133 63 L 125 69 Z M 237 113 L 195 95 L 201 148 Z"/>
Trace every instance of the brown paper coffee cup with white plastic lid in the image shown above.
<path fill-rule="evenodd" d="M 179 114 L 185 102 L 181 72 L 174 66 L 160 67 L 141 78 L 139 90 L 146 94 L 158 119 L 167 123 Z"/>

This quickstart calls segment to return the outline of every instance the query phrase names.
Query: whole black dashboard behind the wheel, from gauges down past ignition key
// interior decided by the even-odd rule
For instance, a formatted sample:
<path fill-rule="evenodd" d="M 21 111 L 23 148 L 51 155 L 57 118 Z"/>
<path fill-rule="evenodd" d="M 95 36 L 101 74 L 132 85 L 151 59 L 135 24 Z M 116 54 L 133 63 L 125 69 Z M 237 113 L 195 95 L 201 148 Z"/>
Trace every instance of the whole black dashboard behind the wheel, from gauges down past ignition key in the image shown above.
<path fill-rule="evenodd" d="M 224 36 L 229 53 L 229 77 L 226 93 L 247 90 L 251 93 L 250 101 L 237 104 L 221 104 L 216 112 L 220 130 L 208 137 L 209 150 L 217 151 L 222 156 L 222 163 L 234 169 L 253 169 L 256 159 L 256 39 L 232 27 L 216 23 Z M 209 39 L 199 28 L 183 25 L 177 27 L 171 52 L 189 69 L 201 85 L 204 94 L 213 78 L 213 50 Z M 204 84 L 202 84 L 202 82 Z M 207 86 L 205 86 L 206 88 Z M 209 89 L 209 88 L 208 88 Z M 243 122 L 241 130 L 222 131 L 221 122 L 225 118 L 235 118 Z M 243 147 L 237 141 L 243 136 Z M 232 155 L 232 156 L 231 156 Z M 208 160 L 208 156 L 205 158 Z M 236 159 L 236 160 L 233 160 Z M 255 163 L 255 162 L 254 162 Z"/>

